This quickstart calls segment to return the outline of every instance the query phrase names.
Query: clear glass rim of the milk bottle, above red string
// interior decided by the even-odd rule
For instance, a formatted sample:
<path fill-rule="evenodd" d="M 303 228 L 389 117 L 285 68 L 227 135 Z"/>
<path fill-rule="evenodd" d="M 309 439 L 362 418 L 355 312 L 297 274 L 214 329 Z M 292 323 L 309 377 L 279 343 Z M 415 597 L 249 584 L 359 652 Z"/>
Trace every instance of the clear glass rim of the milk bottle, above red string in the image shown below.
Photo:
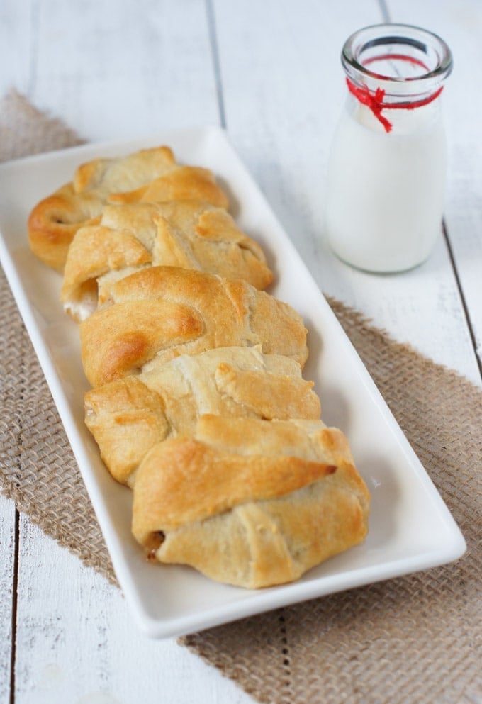
<path fill-rule="evenodd" d="M 412 51 L 419 51 L 428 58 L 431 53 L 434 65 L 428 67 L 423 62 L 417 62 L 425 68 L 425 72 L 415 76 L 386 75 L 376 72 L 363 63 L 362 55 L 367 50 L 383 45 L 405 45 Z M 381 23 L 357 30 L 347 38 L 342 48 L 342 65 L 347 75 L 357 83 L 367 80 L 377 85 L 408 84 L 413 90 L 427 90 L 427 84 L 440 84 L 452 72 L 452 52 L 447 43 L 439 35 L 409 24 Z"/>

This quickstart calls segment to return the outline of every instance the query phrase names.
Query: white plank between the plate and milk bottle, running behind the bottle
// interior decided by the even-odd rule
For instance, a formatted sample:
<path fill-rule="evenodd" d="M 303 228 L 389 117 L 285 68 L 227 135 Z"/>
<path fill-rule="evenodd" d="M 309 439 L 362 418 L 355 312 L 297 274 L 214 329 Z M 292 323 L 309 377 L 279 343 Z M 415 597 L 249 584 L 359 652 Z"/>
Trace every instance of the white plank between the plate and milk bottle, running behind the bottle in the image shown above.
<path fill-rule="evenodd" d="M 328 12 L 316 2 L 293 11 L 288 0 L 242 7 L 216 1 L 228 133 L 320 289 L 476 381 L 442 235 L 422 267 L 393 276 L 347 267 L 325 241 L 327 160 L 346 90 L 340 50 L 352 31 L 381 20 L 376 3 L 330 4 Z M 276 41 L 267 41 L 267 32 Z"/>

